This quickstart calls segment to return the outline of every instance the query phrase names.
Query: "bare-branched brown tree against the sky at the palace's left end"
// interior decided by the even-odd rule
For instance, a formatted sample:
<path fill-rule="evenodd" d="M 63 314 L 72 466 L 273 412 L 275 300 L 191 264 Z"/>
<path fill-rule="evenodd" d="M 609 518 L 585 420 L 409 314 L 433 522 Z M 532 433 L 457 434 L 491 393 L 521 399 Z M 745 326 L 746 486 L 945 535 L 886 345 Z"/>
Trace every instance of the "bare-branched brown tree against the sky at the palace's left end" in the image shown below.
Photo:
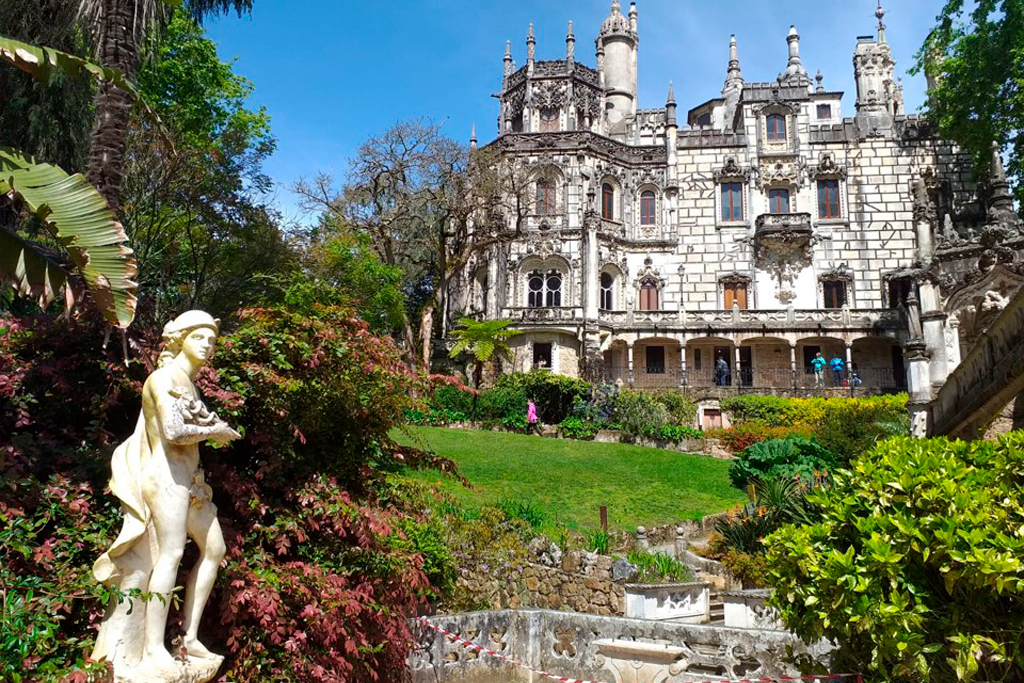
<path fill-rule="evenodd" d="M 408 357 L 429 368 L 435 335 L 452 312 L 453 280 L 473 257 L 522 231 L 529 211 L 525 166 L 498 151 L 460 145 L 435 124 L 399 123 L 367 140 L 341 190 L 333 185 L 321 174 L 295 189 L 307 209 L 370 234 L 381 260 L 402 269 Z"/>

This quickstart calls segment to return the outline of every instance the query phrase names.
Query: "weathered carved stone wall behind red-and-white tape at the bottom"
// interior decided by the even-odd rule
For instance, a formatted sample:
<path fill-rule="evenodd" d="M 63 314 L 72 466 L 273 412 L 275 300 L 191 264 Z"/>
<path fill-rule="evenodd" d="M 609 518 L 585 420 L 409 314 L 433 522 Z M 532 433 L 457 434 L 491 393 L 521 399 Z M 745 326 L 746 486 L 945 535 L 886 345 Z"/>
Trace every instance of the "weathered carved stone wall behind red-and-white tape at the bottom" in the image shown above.
<path fill-rule="evenodd" d="M 805 645 L 793 634 L 757 629 L 652 622 L 552 610 L 502 610 L 432 617 L 438 627 L 504 656 L 556 676 L 599 681 L 623 680 L 623 665 L 643 663 L 644 646 L 658 646 L 657 671 L 645 681 L 709 678 L 757 679 L 797 676 L 792 657 L 810 656 L 824 669 L 829 648 Z M 528 674 L 499 659 L 461 647 L 415 625 L 417 642 L 409 664 L 413 683 L 493 683 L 529 680 Z M 667 648 L 673 656 L 665 657 Z M 792 655 L 788 653 L 792 650 Z M 616 651 L 618 652 L 616 654 Z M 515 677 L 516 672 L 521 678 Z M 537 680 L 537 679 L 535 679 Z M 632 680 L 632 679 L 630 679 Z"/>

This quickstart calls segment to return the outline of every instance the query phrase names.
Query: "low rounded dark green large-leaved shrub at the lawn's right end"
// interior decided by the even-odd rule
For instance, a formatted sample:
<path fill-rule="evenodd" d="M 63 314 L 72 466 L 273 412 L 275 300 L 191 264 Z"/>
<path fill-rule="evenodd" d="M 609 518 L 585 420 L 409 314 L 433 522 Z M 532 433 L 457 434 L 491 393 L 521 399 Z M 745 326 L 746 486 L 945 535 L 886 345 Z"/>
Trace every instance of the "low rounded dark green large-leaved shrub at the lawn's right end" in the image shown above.
<path fill-rule="evenodd" d="M 836 454 L 817 441 L 799 436 L 771 439 L 746 446 L 729 466 L 729 479 L 737 488 L 752 480 L 773 477 L 809 479 L 815 472 L 834 469 Z"/>

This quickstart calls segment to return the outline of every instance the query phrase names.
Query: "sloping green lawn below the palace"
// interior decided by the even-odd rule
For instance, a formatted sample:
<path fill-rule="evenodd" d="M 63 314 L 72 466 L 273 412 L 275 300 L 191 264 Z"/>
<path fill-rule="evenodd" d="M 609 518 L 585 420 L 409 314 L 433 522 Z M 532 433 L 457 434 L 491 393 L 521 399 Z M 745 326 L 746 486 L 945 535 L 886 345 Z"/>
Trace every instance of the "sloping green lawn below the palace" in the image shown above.
<path fill-rule="evenodd" d="M 505 432 L 411 427 L 399 442 L 459 465 L 472 488 L 436 472 L 411 476 L 440 483 L 467 507 L 515 500 L 542 508 L 569 528 L 653 526 L 721 512 L 745 500 L 729 485 L 729 463 L 708 456 Z"/>

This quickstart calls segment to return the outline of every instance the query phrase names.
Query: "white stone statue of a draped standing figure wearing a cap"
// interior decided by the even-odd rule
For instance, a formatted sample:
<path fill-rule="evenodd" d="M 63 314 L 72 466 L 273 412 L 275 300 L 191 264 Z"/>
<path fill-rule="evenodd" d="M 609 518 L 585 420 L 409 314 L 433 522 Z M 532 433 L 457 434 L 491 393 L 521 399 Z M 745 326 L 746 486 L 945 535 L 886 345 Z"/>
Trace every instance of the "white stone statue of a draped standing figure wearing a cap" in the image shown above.
<path fill-rule="evenodd" d="M 121 501 L 124 524 L 93 573 L 124 599 L 108 611 L 92 657 L 112 661 L 116 681 L 205 683 L 223 660 L 198 638 L 225 551 L 213 492 L 200 468 L 199 444 L 240 436 L 207 410 L 195 385 L 213 353 L 219 327 L 219 321 L 201 310 L 164 326 L 165 348 L 142 389 L 135 431 L 111 462 L 111 490 Z M 184 636 L 172 655 L 165 637 L 167 616 L 189 538 L 200 555 L 185 586 Z"/>

